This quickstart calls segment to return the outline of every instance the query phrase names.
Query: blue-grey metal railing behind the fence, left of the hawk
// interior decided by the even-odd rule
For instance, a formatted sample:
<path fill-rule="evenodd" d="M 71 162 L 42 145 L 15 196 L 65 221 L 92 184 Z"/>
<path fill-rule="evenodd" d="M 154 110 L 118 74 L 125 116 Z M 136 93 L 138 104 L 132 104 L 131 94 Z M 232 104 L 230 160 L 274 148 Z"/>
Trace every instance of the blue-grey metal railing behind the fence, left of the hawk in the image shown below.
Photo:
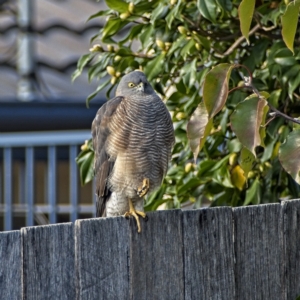
<path fill-rule="evenodd" d="M 72 222 L 78 219 L 80 213 L 95 215 L 93 192 L 91 192 L 92 196 L 88 203 L 80 204 L 78 201 L 80 184 L 75 161 L 79 146 L 90 136 L 88 130 L 0 134 L 0 217 L 3 216 L 4 230 L 14 229 L 14 214 L 23 214 L 26 219 L 26 224 L 24 224 L 26 226 L 57 223 L 59 214 L 69 214 L 69 221 Z M 58 149 L 61 146 L 68 148 L 68 155 L 63 158 L 63 160 L 68 161 L 69 168 L 69 199 L 67 204 L 57 203 L 56 177 L 57 166 L 62 160 L 58 155 Z M 46 147 L 47 149 L 47 155 L 42 158 L 46 162 L 43 203 L 36 203 L 34 193 L 35 151 L 39 147 Z M 23 172 L 19 172 L 18 175 L 19 196 L 14 197 L 15 200 L 13 201 L 13 190 L 15 189 L 13 187 L 15 176 L 13 173 L 15 160 L 13 153 L 15 149 L 23 151 L 22 158 L 18 158 L 23 166 Z"/>

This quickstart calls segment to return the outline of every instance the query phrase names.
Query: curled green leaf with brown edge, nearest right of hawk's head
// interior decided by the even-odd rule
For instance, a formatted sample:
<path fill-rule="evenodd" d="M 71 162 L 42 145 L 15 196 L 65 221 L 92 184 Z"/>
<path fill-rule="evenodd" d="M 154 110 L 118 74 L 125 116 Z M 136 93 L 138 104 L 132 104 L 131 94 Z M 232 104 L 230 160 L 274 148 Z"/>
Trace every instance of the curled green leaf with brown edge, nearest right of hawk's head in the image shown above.
<path fill-rule="evenodd" d="M 203 101 L 209 118 L 214 117 L 225 105 L 228 81 L 233 65 L 219 64 L 209 71 L 203 84 Z"/>

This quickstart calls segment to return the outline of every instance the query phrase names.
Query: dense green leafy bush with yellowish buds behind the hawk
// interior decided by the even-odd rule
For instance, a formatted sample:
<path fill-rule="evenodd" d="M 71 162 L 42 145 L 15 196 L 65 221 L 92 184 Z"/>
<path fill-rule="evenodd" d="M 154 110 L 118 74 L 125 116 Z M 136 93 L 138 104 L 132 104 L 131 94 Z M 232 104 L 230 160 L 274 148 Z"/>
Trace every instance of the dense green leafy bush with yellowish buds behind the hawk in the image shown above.
<path fill-rule="evenodd" d="M 99 78 L 89 102 L 105 88 L 113 97 L 120 77 L 141 69 L 166 101 L 176 144 L 146 210 L 299 197 L 300 1 L 106 4 L 91 16 L 106 23 L 73 77 L 88 67 L 89 79 Z M 83 182 L 92 177 L 91 151 L 87 144 L 78 158 Z"/>

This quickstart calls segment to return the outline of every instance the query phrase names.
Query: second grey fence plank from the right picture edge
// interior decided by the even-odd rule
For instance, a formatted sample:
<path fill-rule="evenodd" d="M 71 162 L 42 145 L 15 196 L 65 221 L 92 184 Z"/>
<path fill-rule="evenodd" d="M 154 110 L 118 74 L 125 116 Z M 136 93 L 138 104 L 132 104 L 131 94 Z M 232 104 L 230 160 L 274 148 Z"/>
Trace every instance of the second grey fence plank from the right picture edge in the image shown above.
<path fill-rule="evenodd" d="M 282 299 L 281 205 L 233 209 L 236 297 Z"/>

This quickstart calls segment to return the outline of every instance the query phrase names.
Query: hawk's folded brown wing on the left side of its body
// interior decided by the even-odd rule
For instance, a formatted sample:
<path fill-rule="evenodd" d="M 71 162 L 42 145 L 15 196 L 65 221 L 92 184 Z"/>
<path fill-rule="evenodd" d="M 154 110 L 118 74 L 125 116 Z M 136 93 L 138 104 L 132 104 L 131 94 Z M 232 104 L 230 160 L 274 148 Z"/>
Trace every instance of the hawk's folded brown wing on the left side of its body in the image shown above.
<path fill-rule="evenodd" d="M 114 161 L 109 160 L 109 155 L 106 152 L 106 142 L 110 135 L 108 124 L 122 100 L 123 97 L 115 97 L 102 105 L 92 124 L 92 137 L 95 151 L 94 172 L 96 177 L 97 217 L 104 216 L 106 202 L 111 195 L 111 191 L 107 185 L 107 179 L 113 169 Z"/>

